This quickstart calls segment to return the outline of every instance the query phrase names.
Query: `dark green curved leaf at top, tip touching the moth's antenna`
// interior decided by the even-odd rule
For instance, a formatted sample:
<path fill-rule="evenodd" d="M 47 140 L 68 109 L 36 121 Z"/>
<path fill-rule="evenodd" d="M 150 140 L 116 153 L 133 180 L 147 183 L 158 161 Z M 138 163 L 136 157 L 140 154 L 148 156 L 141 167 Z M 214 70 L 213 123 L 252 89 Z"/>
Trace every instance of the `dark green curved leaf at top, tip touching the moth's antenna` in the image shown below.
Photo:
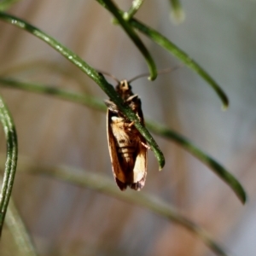
<path fill-rule="evenodd" d="M 131 38 L 133 43 L 136 44 L 137 48 L 141 51 L 145 60 L 148 63 L 148 69 L 150 73 L 150 77 L 148 79 L 150 80 L 156 79 L 157 70 L 156 70 L 152 56 L 149 54 L 148 49 L 143 44 L 143 41 L 138 37 L 137 33 L 133 30 L 132 26 L 123 18 L 123 16 L 121 15 L 122 12 L 120 12 L 119 9 L 116 8 L 116 6 L 111 0 L 96 0 L 96 1 L 102 4 L 103 7 L 108 9 L 113 14 L 116 20 L 119 21 L 120 26 L 124 28 L 129 38 Z"/>

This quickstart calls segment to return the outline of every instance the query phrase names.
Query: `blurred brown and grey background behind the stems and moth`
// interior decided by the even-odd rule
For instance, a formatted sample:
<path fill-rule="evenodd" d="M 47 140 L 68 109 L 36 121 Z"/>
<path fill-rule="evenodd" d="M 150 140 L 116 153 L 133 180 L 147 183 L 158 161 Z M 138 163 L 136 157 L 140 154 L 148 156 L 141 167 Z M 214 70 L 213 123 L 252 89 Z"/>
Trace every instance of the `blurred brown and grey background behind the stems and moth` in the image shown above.
<path fill-rule="evenodd" d="M 115 1 L 129 9 L 131 1 Z M 201 224 L 230 255 L 256 253 L 256 26 L 255 1 L 183 0 L 186 19 L 170 20 L 168 1 L 148 0 L 137 13 L 143 23 L 170 38 L 222 86 L 230 108 L 222 111 L 213 90 L 182 67 L 154 82 L 135 81 L 146 118 L 168 125 L 197 146 L 243 184 L 243 207 L 230 188 L 207 166 L 176 144 L 154 136 L 166 156 L 158 172 L 148 153 L 143 189 L 177 207 Z M 143 56 L 111 15 L 96 1 L 23 0 L 9 13 L 29 21 L 72 49 L 92 67 L 131 79 L 147 72 Z M 144 43 L 159 69 L 178 61 L 147 38 Z M 92 80 L 47 44 L 0 21 L 0 73 L 27 82 L 51 84 L 108 98 Z M 113 178 L 106 116 L 53 97 L 1 87 L 15 119 L 19 154 L 38 165 L 79 167 Z M 1 131 L 1 152 L 5 154 Z M 113 181 L 114 183 L 114 181 Z M 116 188 L 118 189 L 118 187 Z M 124 192 L 125 193 L 125 192 Z M 38 255 L 175 255 L 213 253 L 189 231 L 143 208 L 61 183 L 45 176 L 19 173 L 13 198 Z M 0 254 L 13 254 L 13 241 L 3 230 Z"/>

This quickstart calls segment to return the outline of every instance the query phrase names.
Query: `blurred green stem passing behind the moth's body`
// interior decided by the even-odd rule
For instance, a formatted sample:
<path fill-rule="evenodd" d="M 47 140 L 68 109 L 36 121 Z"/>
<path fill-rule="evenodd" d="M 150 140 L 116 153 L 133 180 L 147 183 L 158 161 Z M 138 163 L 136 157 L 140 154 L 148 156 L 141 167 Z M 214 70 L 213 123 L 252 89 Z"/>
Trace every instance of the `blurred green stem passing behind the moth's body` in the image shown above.
<path fill-rule="evenodd" d="M 100 111 L 106 111 L 107 109 L 101 100 L 93 96 L 85 96 L 71 91 L 61 90 L 55 86 L 21 83 L 14 79 L 5 79 L 0 77 L 0 86 L 1 84 L 2 86 L 7 86 L 13 89 L 28 90 L 49 96 L 57 96 L 69 102 L 83 104 L 89 108 Z M 242 203 L 245 203 L 246 193 L 241 184 L 237 181 L 236 177 L 233 177 L 230 172 L 228 172 L 223 166 L 219 165 L 216 160 L 213 160 L 211 156 L 205 154 L 200 148 L 197 148 L 193 143 L 189 142 L 187 138 L 183 137 L 175 131 L 172 131 L 166 127 L 166 125 L 161 125 L 147 119 L 146 126 L 148 127 L 149 131 L 154 132 L 154 134 L 157 134 L 160 137 L 165 137 L 169 140 L 172 140 L 173 142 L 179 144 L 183 149 L 187 150 L 190 154 L 193 154 L 198 160 L 201 160 L 201 162 L 206 164 L 213 172 L 218 175 L 218 177 L 223 179 L 224 182 L 227 183 L 231 189 L 233 189 Z"/>

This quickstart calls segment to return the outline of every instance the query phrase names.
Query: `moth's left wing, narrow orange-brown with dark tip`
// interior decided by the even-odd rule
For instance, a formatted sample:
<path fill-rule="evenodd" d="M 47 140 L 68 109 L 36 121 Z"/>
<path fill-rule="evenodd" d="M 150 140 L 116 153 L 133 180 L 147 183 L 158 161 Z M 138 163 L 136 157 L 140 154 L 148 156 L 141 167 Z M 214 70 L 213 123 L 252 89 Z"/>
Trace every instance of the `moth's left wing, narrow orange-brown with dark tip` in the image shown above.
<path fill-rule="evenodd" d="M 119 164 L 119 157 L 117 152 L 118 149 L 117 149 L 116 142 L 113 137 L 113 132 L 111 129 L 112 117 L 113 117 L 113 113 L 108 109 L 108 113 L 107 113 L 108 150 L 109 150 L 110 160 L 112 164 L 113 177 L 115 178 L 115 181 L 119 186 L 119 189 L 125 190 L 127 188 L 127 184 L 125 183 L 125 174 L 122 171 L 121 166 Z"/>

